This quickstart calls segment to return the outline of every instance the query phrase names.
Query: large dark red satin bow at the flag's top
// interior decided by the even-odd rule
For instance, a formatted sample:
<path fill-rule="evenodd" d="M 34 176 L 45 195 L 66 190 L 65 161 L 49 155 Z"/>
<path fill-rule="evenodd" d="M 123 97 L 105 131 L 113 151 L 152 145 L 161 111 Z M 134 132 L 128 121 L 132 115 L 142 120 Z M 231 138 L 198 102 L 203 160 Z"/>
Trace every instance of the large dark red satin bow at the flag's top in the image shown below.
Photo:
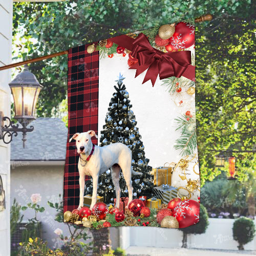
<path fill-rule="evenodd" d="M 153 48 L 143 33 L 140 33 L 133 42 L 131 55 L 138 59 L 130 69 L 136 69 L 136 75 L 140 75 L 147 68 L 142 83 L 151 80 L 153 87 L 159 74 L 160 79 L 171 76 L 181 77 L 191 63 L 190 51 L 163 53 Z"/>

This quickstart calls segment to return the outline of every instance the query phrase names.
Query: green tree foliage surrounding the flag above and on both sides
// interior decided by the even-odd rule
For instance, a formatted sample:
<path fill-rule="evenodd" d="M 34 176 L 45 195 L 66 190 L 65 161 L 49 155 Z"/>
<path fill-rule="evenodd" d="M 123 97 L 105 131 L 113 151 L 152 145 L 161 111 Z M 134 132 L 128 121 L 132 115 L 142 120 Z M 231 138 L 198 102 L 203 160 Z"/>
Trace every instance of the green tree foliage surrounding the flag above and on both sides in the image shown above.
<path fill-rule="evenodd" d="M 14 3 L 14 61 L 213 14 L 212 22 L 196 25 L 196 118 L 203 185 L 220 174 L 211 150 L 254 148 L 254 9 L 250 0 Z M 37 115 L 58 115 L 59 103 L 67 97 L 67 55 L 32 63 L 30 69 L 44 85 Z M 253 170 L 253 155 L 233 155 L 239 179 L 246 181 L 245 173 Z"/>

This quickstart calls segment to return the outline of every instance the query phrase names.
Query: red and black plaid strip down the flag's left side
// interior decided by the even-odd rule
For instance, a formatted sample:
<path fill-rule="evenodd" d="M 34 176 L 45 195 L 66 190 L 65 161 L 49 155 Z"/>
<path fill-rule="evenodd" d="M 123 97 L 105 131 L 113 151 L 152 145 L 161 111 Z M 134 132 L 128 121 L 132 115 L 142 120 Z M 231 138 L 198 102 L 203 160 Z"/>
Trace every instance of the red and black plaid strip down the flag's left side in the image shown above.
<path fill-rule="evenodd" d="M 99 52 L 89 54 L 87 47 L 75 47 L 68 54 L 69 129 L 64 174 L 64 212 L 72 211 L 79 205 L 79 155 L 75 141 L 69 142 L 69 139 L 75 133 L 98 131 Z M 92 142 L 97 144 L 97 139 L 94 137 Z"/>

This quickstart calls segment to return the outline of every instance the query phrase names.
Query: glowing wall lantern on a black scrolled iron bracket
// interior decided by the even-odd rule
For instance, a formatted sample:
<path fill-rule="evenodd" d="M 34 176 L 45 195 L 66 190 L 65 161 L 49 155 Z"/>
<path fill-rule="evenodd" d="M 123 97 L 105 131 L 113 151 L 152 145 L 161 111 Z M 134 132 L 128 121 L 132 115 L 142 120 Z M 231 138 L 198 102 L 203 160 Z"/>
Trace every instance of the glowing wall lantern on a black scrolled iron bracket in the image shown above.
<path fill-rule="evenodd" d="M 14 118 L 22 127 L 19 127 L 18 124 L 14 124 L 14 121 L 11 121 L 7 116 L 4 117 L 3 112 L 0 112 L 2 128 L 0 130 L 0 139 L 3 139 L 4 143 L 8 144 L 12 141 L 13 135 L 17 136 L 17 132 L 22 132 L 23 147 L 25 147 L 27 132 L 34 130 L 33 126 L 27 128 L 27 125 L 36 119 L 34 116 L 35 107 L 42 86 L 35 75 L 29 71 L 28 65 L 24 66 L 24 70 L 9 83 L 9 86 L 14 100 Z M 6 120 L 8 120 L 8 125 L 4 125 L 4 121 Z"/>

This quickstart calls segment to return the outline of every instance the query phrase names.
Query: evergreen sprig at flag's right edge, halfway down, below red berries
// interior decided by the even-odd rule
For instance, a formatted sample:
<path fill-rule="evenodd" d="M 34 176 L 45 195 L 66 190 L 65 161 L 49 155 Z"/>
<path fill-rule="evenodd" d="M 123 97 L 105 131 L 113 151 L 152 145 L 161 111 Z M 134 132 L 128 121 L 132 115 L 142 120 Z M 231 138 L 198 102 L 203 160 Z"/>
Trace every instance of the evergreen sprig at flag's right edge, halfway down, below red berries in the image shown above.
<path fill-rule="evenodd" d="M 187 116 L 183 115 L 182 117 L 176 118 L 175 121 L 178 123 L 176 131 L 181 130 L 181 137 L 176 139 L 174 148 L 181 150 L 182 156 L 193 154 L 197 147 L 195 117 L 191 117 L 187 120 Z"/>

